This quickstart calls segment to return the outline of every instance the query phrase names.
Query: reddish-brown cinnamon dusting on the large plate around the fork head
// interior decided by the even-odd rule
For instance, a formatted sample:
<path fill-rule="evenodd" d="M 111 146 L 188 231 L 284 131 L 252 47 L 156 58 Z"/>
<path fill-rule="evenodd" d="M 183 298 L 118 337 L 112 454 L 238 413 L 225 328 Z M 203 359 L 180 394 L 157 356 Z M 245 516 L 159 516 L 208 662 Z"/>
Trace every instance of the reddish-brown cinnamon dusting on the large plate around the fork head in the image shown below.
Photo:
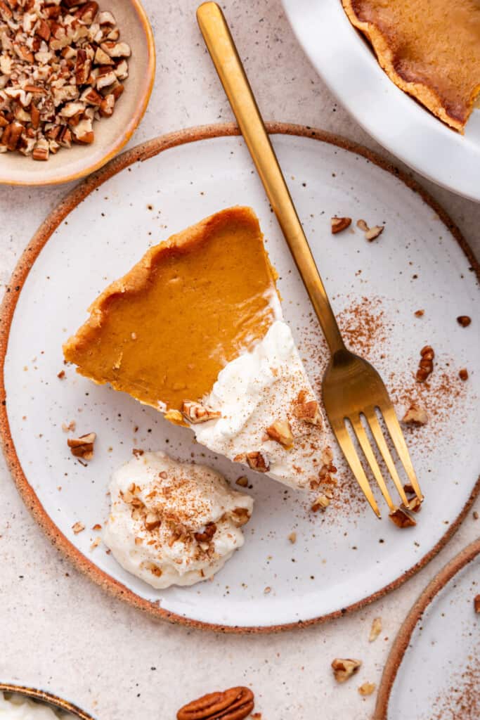
<path fill-rule="evenodd" d="M 445 352 L 440 352 L 435 358 L 433 373 L 427 381 L 416 382 L 418 353 L 425 342 L 423 338 L 419 338 L 418 350 L 411 359 L 394 359 L 391 349 L 394 346 L 392 340 L 395 330 L 393 312 L 388 301 L 381 297 L 362 297 L 361 300 L 356 298 L 338 313 L 338 324 L 347 346 L 371 361 L 381 373 L 399 418 L 403 417 L 412 402 L 427 410 L 429 423 L 426 426 L 403 428 L 415 456 L 425 457 L 438 447 L 440 438 L 443 442 L 448 441 L 449 434 L 453 433 L 453 415 L 456 423 L 466 421 L 468 383 L 462 382 L 458 377 L 458 362 L 453 357 L 445 356 Z M 299 346 L 304 349 L 304 363 L 317 397 L 322 397 L 322 377 L 329 354 L 314 316 L 309 317 L 308 327 L 302 328 L 302 342 Z M 327 431 L 330 432 L 330 428 L 327 428 Z M 327 442 L 329 441 L 335 448 L 335 439 L 328 438 Z M 363 516 L 366 511 L 363 492 L 352 478 L 340 451 L 335 451 L 335 465 L 338 466 L 338 474 L 335 475 L 338 485 L 335 487 L 334 497 L 328 511 L 322 513 L 321 518 L 312 518 L 314 524 L 335 523 L 338 513 L 343 516 Z M 307 503 L 305 508 L 308 507 Z"/>

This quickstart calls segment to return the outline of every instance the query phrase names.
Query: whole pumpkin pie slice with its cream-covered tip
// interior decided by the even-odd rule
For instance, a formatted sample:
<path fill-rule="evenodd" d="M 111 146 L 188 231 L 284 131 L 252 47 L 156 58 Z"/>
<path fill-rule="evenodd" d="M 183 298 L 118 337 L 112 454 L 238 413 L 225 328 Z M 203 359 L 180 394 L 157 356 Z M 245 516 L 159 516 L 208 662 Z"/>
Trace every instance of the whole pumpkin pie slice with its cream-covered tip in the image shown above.
<path fill-rule="evenodd" d="M 151 248 L 89 312 L 63 347 L 82 375 L 287 485 L 325 480 L 322 413 L 253 210 L 217 212 Z"/>

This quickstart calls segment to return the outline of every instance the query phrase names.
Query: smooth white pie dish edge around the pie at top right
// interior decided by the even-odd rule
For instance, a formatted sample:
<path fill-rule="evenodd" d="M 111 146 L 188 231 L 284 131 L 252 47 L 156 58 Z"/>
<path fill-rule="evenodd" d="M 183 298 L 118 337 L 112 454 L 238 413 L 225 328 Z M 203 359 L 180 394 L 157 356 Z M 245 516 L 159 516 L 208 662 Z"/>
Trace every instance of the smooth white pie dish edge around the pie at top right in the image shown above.
<path fill-rule="evenodd" d="M 400 90 L 350 24 L 341 0 L 283 0 L 296 36 L 356 121 L 404 163 L 444 187 L 480 200 L 480 109 L 465 135 Z"/>

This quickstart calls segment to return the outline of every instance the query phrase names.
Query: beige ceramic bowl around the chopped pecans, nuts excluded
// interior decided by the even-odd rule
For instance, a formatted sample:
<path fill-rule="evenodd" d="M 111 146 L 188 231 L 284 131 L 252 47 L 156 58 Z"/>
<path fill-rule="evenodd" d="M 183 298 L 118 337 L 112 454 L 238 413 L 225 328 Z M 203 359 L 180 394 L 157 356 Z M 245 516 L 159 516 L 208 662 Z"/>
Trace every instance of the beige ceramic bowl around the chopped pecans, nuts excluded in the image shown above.
<path fill-rule="evenodd" d="M 120 39 L 132 48 L 129 76 L 114 114 L 95 122 L 94 143 L 61 148 L 56 155 L 50 153 L 46 162 L 17 152 L 1 153 L 0 184 L 50 185 L 77 180 L 117 155 L 142 120 L 155 78 L 155 44 L 147 14 L 140 0 L 99 0 L 99 6 L 114 14 Z"/>

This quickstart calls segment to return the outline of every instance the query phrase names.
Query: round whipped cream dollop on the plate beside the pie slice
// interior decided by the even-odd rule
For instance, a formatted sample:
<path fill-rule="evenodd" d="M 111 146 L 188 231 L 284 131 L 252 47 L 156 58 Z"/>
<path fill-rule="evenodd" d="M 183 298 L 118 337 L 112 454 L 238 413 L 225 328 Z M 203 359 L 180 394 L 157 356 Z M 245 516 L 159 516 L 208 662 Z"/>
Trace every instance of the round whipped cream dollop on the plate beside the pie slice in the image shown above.
<path fill-rule="evenodd" d="M 112 477 L 104 542 L 154 588 L 207 580 L 243 545 L 253 499 L 204 465 L 145 452 Z"/>

